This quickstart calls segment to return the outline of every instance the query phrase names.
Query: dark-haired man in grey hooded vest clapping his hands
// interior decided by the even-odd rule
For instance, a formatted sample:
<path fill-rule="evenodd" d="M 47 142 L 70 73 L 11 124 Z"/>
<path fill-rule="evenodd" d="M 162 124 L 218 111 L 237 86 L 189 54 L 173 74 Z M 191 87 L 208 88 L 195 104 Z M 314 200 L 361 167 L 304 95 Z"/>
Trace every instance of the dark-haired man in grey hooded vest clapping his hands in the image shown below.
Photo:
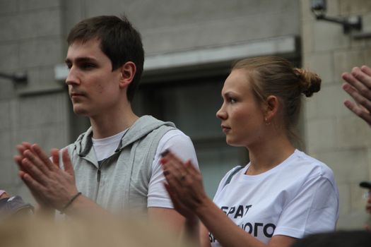
<path fill-rule="evenodd" d="M 171 149 L 197 164 L 196 154 L 173 123 L 131 109 L 143 71 L 139 32 L 126 18 L 98 16 L 78 23 L 67 40 L 73 112 L 88 116 L 91 127 L 61 152 L 52 150 L 51 158 L 36 144 L 18 145 L 20 178 L 45 209 L 68 215 L 128 210 L 179 229 L 183 219 L 163 188 L 160 154 Z"/>

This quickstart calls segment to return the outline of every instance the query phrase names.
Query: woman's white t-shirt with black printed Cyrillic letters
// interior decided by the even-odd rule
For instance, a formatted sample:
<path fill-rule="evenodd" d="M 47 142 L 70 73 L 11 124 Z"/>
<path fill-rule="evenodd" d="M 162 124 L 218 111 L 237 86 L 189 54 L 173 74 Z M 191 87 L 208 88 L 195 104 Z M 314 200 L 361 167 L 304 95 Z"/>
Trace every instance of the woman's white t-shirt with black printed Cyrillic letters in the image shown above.
<path fill-rule="evenodd" d="M 249 164 L 225 185 L 220 181 L 214 203 L 235 224 L 263 243 L 274 235 L 302 238 L 334 231 L 338 219 L 338 188 L 334 174 L 304 152 L 295 150 L 284 162 L 249 176 Z M 220 243 L 210 234 L 211 246 Z"/>

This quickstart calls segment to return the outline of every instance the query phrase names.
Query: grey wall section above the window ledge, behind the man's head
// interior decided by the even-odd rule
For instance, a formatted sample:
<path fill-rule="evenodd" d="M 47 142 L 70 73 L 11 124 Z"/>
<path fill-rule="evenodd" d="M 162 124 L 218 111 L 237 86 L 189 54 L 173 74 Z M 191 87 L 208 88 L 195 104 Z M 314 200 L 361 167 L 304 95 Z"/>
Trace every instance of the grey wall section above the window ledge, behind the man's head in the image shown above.
<path fill-rule="evenodd" d="M 66 1 L 66 20 L 126 13 L 143 36 L 146 55 L 298 35 L 295 0 Z M 66 22 L 71 28 L 71 21 Z M 266 25 L 269 23 L 269 25 Z"/>

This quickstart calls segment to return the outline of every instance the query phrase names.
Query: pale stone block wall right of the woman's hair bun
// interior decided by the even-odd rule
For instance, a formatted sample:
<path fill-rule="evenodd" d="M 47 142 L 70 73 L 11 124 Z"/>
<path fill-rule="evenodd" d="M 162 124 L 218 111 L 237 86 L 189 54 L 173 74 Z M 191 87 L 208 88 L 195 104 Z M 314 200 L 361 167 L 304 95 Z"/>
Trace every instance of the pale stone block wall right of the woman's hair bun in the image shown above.
<path fill-rule="evenodd" d="M 371 1 L 327 2 L 329 16 L 363 16 L 363 30 L 370 31 Z M 314 20 L 310 1 L 301 4 L 303 66 L 323 79 L 321 91 L 307 100 L 307 152 L 334 170 L 341 203 L 338 229 L 363 227 L 365 190 L 358 183 L 371 180 L 371 130 L 343 106 L 349 97 L 341 89 L 341 73 L 353 66 L 371 66 L 371 39 L 356 40 L 343 34 L 341 25 Z"/>

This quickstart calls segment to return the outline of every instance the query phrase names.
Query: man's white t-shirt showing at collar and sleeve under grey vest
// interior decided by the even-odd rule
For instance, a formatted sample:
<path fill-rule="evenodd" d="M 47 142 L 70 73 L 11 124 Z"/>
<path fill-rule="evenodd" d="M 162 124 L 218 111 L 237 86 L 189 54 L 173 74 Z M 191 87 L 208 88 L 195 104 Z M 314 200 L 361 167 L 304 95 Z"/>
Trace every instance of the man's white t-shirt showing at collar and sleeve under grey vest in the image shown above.
<path fill-rule="evenodd" d="M 95 156 L 98 161 L 106 159 L 114 154 L 114 150 L 119 146 L 119 142 L 126 131 L 127 130 L 107 138 L 92 138 Z M 165 176 L 163 176 L 163 169 L 160 164 L 160 153 L 166 149 L 174 152 L 174 154 L 184 162 L 191 159 L 192 164 L 194 164 L 196 168 L 199 168 L 196 151 L 194 150 L 192 140 L 189 136 L 178 129 L 167 131 L 158 143 L 155 159 L 152 163 L 152 176 L 148 185 L 147 207 L 173 208 L 172 201 L 163 185 Z"/>

